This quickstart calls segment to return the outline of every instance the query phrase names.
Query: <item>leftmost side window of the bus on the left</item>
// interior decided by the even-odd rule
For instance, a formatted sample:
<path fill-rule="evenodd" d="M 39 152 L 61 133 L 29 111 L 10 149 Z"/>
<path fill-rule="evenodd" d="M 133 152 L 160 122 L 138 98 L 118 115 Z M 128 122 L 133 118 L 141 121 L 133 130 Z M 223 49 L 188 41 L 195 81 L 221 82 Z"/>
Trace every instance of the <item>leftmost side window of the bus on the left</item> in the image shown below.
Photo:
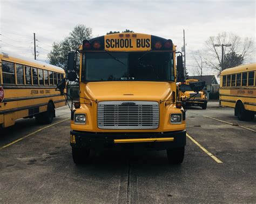
<path fill-rule="evenodd" d="M 15 84 L 14 63 L 2 62 L 2 73 L 4 84 Z"/>

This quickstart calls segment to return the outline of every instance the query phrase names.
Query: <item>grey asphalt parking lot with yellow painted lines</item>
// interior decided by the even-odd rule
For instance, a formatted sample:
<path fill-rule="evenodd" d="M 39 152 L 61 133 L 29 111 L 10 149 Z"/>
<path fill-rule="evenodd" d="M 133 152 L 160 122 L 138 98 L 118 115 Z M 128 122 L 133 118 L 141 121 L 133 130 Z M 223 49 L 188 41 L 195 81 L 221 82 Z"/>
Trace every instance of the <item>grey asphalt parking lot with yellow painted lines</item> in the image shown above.
<path fill-rule="evenodd" d="M 179 166 L 165 151 L 93 152 L 73 164 L 68 106 L 51 125 L 18 120 L 1 130 L 0 202 L 256 202 L 256 119 L 209 102 L 186 112 L 187 145 Z"/>

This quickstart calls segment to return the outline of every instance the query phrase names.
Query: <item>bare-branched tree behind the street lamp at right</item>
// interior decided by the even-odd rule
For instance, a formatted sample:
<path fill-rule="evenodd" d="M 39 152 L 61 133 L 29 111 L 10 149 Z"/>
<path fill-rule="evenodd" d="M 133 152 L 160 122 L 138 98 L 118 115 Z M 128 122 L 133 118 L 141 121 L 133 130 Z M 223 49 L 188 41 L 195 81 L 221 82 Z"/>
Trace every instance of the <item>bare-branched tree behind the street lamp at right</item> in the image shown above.
<path fill-rule="evenodd" d="M 216 47 L 214 46 L 215 44 L 231 44 L 231 46 L 227 47 L 224 46 L 224 53 L 233 53 L 232 56 L 239 56 L 240 57 L 240 62 L 238 64 L 242 64 L 244 62 L 244 59 L 247 57 L 251 56 L 253 52 L 253 39 L 252 38 L 244 38 L 242 39 L 241 37 L 235 35 L 234 33 L 227 33 L 227 32 L 222 32 L 219 33 L 217 36 L 210 36 L 206 42 L 206 57 L 205 59 L 205 64 L 210 67 L 212 70 L 215 70 L 218 72 L 218 74 L 222 71 L 221 70 L 221 47 Z M 229 55 L 231 56 L 231 55 Z M 224 55 L 225 59 L 225 55 Z M 232 60 L 232 58 L 227 58 L 227 60 Z M 227 64 L 232 64 L 232 63 L 224 63 L 225 65 Z M 224 67 L 226 69 L 228 67 Z"/>

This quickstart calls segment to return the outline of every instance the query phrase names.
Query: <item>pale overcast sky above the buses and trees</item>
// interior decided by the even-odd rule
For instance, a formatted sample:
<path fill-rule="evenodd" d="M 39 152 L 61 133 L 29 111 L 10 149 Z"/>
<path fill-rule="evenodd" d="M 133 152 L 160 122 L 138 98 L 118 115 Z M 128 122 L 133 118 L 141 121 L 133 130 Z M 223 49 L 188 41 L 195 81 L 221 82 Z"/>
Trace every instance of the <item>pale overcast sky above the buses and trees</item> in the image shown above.
<path fill-rule="evenodd" d="M 6 1 L 0 0 L 5 52 L 33 59 L 33 32 L 38 60 L 47 60 L 53 42 L 60 42 L 77 24 L 92 28 L 93 36 L 130 29 L 172 39 L 180 51 L 186 32 L 188 72 L 193 75 L 194 51 L 210 36 L 226 31 L 255 41 L 253 1 Z M 254 46 L 255 47 L 255 46 Z M 220 47 L 217 47 L 220 49 Z M 246 63 L 255 62 L 255 49 Z M 203 74 L 213 73 L 205 69 Z"/>

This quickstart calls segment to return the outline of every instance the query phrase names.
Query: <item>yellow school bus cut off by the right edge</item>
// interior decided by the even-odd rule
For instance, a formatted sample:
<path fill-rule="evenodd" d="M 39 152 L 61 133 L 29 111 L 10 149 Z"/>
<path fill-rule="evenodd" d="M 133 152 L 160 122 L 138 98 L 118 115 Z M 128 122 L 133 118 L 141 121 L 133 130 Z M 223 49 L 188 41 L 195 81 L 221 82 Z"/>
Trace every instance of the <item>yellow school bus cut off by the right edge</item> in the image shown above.
<path fill-rule="evenodd" d="M 226 69 L 220 74 L 221 105 L 234 108 L 239 120 L 256 113 L 256 63 Z"/>

